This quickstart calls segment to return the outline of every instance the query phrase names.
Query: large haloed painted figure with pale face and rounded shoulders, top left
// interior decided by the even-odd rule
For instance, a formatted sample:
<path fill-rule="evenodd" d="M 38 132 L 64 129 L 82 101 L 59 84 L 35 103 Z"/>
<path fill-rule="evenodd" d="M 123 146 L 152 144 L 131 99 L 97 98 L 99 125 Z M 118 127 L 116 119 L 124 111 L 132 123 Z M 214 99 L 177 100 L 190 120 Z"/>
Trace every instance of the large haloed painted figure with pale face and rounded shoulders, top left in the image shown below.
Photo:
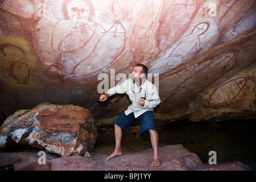
<path fill-rule="evenodd" d="M 57 61 L 52 70 L 65 75 L 71 73 L 81 60 L 93 52 L 95 44 L 104 28 L 92 22 L 94 6 L 88 0 L 68 0 L 63 2 L 64 19 L 60 20 L 52 32 L 52 55 Z"/>

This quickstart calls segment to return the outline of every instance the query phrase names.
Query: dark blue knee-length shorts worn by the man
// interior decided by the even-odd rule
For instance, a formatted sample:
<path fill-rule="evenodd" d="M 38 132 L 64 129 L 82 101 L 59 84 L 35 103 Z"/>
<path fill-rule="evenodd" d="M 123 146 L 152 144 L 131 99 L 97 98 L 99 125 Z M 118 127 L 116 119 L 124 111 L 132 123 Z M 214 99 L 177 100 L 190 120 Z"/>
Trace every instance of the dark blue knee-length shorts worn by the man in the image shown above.
<path fill-rule="evenodd" d="M 129 129 L 131 125 L 136 121 L 137 118 L 134 117 L 133 113 L 130 113 L 128 115 L 123 112 L 120 114 L 113 123 L 119 127 L 122 128 L 123 133 Z M 142 115 L 139 116 L 139 120 L 141 122 L 141 133 L 144 135 L 149 135 L 149 129 L 155 130 L 155 125 L 154 125 L 154 114 L 152 110 L 148 110 Z"/>

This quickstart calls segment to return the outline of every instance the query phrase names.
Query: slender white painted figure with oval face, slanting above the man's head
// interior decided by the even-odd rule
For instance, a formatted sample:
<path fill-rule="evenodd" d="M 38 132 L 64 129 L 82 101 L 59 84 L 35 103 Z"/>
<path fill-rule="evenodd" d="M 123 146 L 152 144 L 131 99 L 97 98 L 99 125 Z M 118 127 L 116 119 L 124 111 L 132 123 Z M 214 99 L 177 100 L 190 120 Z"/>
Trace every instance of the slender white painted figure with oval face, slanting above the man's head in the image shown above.
<path fill-rule="evenodd" d="M 165 51 L 165 55 L 148 68 L 150 72 L 165 73 L 187 62 L 186 56 L 195 55 L 201 51 L 200 35 L 208 28 L 208 22 L 200 23 L 192 30 L 191 34 L 171 44 L 170 48 Z"/>

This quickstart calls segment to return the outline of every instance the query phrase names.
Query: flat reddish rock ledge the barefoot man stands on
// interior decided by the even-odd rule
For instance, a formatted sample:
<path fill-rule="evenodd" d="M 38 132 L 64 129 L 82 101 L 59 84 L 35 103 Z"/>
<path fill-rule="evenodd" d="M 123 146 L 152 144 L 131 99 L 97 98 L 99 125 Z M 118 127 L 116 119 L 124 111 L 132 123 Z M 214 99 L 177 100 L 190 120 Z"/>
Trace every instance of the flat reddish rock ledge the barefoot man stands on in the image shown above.
<path fill-rule="evenodd" d="M 161 165 L 151 167 L 152 148 L 131 152 L 106 160 L 114 146 L 96 147 L 84 156 L 57 157 L 46 154 L 46 162 L 36 152 L 0 153 L 2 166 L 13 164 L 15 171 L 247 171 L 250 168 L 238 161 L 209 165 L 203 164 L 198 156 L 187 151 L 182 144 L 159 147 Z M 40 160 L 40 162 L 39 162 Z"/>

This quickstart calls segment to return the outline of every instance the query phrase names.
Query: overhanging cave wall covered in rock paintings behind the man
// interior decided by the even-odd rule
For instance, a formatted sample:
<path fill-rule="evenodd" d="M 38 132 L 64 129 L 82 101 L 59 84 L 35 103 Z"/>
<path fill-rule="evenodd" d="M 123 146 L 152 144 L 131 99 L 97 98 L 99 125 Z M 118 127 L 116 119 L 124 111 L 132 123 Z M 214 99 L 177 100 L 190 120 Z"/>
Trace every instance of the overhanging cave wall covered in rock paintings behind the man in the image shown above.
<path fill-rule="evenodd" d="M 0 112 L 50 102 L 113 117 L 129 100 L 100 104 L 98 76 L 107 89 L 143 63 L 160 119 L 256 118 L 255 3 L 1 0 Z"/>

